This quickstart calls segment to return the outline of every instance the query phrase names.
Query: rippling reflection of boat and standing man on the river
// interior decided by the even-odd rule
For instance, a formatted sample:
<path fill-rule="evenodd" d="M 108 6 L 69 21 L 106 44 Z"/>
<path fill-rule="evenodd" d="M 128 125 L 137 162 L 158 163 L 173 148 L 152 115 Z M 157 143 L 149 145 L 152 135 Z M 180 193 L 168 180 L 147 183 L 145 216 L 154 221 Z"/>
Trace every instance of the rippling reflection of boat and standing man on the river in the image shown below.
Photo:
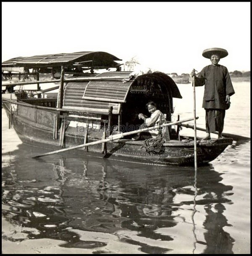
<path fill-rule="evenodd" d="M 9 222 L 38 230 L 27 231 L 28 239 L 63 240 L 68 248 L 106 245 L 74 232 L 84 230 L 115 234 L 144 253 L 177 253 L 183 246 L 189 253 L 197 246 L 201 253 L 233 253 L 234 239 L 223 230 L 232 187 L 221 183 L 212 165 L 194 177 L 192 167 L 60 156 L 35 160 L 24 155 L 27 148 L 19 145 L 8 160 L 3 156 L 2 205 Z"/>

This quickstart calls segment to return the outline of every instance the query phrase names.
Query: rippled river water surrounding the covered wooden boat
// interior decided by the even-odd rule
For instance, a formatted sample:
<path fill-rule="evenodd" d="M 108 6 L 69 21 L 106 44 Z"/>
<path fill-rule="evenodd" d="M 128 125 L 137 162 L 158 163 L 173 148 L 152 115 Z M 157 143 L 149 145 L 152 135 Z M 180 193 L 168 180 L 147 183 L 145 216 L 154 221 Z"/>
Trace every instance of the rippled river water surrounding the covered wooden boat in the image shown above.
<path fill-rule="evenodd" d="M 192 86 L 178 87 L 173 119 L 193 117 Z M 223 132 L 250 137 L 250 82 L 234 89 Z M 196 174 L 66 154 L 31 158 L 40 153 L 8 129 L 2 109 L 2 253 L 250 253 L 250 142 L 228 146 Z"/>

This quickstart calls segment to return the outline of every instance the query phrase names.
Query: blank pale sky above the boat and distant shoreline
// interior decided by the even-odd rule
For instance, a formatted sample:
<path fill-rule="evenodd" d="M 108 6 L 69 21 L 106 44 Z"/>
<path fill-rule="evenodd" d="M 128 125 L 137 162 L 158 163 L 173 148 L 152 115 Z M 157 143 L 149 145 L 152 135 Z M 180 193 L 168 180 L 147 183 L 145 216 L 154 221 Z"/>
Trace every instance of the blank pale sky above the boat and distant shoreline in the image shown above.
<path fill-rule="evenodd" d="M 2 61 L 104 51 L 181 74 L 214 47 L 228 71 L 250 70 L 250 2 L 2 2 Z"/>

